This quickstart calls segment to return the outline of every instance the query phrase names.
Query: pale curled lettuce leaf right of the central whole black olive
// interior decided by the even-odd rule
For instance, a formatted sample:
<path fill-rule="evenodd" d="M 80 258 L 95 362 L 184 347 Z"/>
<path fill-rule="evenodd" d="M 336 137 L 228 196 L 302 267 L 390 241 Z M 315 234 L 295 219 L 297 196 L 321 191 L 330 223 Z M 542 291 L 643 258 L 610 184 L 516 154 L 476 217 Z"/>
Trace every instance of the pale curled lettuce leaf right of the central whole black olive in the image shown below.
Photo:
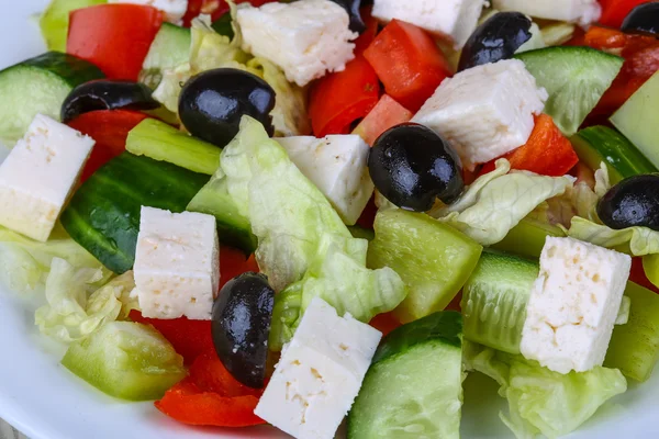
<path fill-rule="evenodd" d="M 478 178 L 457 202 L 431 215 L 490 246 L 502 240 L 540 203 L 563 194 L 573 184 L 571 177 L 510 170 L 507 160 L 496 160 L 496 168 Z"/>

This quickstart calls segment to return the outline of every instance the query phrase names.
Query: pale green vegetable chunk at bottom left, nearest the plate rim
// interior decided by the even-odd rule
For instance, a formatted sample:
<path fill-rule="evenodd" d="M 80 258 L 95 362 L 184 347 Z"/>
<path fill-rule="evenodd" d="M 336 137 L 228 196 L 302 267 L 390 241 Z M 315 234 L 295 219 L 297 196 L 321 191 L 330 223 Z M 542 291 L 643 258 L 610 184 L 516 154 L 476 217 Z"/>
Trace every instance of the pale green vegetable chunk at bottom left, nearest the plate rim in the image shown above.
<path fill-rule="evenodd" d="M 163 397 L 186 376 L 183 358 L 152 326 L 111 322 L 71 344 L 62 364 L 100 391 L 130 401 Z"/>

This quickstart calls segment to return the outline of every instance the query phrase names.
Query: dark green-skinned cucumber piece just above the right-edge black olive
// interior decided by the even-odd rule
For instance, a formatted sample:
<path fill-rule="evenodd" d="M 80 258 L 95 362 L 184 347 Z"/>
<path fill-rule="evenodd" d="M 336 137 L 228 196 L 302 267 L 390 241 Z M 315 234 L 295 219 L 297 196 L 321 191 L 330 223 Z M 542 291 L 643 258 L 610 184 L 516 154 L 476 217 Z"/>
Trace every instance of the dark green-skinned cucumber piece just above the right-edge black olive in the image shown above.
<path fill-rule="evenodd" d="M 579 159 L 591 169 L 600 169 L 603 161 L 608 169 L 611 184 L 627 177 L 659 172 L 629 140 L 606 126 L 591 126 L 574 134 L 570 142 Z"/>

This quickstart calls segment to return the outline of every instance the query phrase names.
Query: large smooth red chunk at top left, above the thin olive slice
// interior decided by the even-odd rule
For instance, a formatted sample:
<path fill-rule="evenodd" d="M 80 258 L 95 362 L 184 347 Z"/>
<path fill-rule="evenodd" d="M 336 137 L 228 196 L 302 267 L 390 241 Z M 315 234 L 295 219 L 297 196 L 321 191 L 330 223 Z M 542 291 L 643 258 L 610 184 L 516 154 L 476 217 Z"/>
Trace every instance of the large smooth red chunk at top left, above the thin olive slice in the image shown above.
<path fill-rule="evenodd" d="M 138 4 L 99 4 L 72 11 L 66 52 L 98 66 L 110 79 L 137 80 L 163 24 L 163 13 Z"/>

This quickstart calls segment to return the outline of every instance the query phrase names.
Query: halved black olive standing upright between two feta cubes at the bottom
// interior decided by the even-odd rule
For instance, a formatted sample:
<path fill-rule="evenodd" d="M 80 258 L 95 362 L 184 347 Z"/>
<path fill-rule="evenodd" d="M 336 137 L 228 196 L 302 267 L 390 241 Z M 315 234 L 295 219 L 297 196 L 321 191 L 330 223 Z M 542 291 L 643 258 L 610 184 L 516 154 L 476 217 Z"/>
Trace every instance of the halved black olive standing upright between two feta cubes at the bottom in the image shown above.
<path fill-rule="evenodd" d="M 254 389 L 264 386 L 273 303 L 268 278 L 248 272 L 226 282 L 213 304 L 215 351 L 236 380 Z"/>

